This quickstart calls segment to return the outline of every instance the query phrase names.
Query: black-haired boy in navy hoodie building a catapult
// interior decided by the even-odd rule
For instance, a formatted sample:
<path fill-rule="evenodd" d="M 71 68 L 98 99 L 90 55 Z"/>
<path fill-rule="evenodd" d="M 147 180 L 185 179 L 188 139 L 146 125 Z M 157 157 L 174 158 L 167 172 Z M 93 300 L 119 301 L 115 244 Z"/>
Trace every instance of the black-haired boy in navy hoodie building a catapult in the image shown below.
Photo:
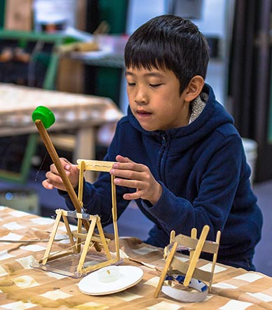
<path fill-rule="evenodd" d="M 208 44 L 189 20 L 163 15 L 137 29 L 125 46 L 128 115 L 104 160 L 116 161 L 118 216 L 135 199 L 154 222 L 147 244 L 163 247 L 171 230 L 189 235 L 208 224 L 208 239 L 222 231 L 217 261 L 254 270 L 261 211 L 233 118 L 204 83 L 208 60 Z M 78 169 L 63 165 L 76 188 Z M 84 207 L 103 225 L 111 223 L 110 174 L 83 190 Z M 54 165 L 46 178 L 43 186 L 59 189 L 74 209 Z"/>

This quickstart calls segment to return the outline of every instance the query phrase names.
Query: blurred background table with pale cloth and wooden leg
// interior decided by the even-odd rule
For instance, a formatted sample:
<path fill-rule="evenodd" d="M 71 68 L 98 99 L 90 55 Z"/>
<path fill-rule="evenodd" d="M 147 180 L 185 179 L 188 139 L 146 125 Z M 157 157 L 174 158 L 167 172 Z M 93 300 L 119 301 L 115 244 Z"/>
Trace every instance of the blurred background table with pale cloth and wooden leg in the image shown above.
<path fill-rule="evenodd" d="M 106 97 L 0 83 L 0 136 L 36 133 L 32 112 L 37 106 L 47 106 L 55 114 L 48 132 L 76 129 L 74 159 L 95 159 L 97 127 L 123 115 Z"/>

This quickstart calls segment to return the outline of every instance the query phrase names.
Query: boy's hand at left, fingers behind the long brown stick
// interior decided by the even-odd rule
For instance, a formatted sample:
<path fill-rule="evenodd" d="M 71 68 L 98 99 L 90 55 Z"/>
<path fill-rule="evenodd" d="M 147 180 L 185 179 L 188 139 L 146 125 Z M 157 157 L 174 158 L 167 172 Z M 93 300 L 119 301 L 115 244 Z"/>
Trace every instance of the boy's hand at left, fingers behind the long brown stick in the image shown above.
<path fill-rule="evenodd" d="M 76 164 L 71 164 L 65 158 L 60 158 L 60 162 L 62 163 L 62 167 L 64 168 L 70 182 L 72 183 L 73 188 L 79 184 L 79 169 Z M 50 171 L 46 172 L 46 180 L 43 181 L 43 187 L 47 190 L 53 190 L 53 188 L 57 188 L 58 190 L 65 190 L 62 178 L 60 174 L 57 172 L 57 168 L 55 164 L 50 165 Z"/>

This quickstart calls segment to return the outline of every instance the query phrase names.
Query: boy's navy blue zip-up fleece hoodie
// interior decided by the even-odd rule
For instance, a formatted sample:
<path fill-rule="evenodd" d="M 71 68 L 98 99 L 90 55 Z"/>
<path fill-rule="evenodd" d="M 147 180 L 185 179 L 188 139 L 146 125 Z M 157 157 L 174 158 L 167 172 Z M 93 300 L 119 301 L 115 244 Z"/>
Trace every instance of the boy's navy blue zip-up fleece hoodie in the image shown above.
<path fill-rule="evenodd" d="M 154 222 L 148 244 L 163 247 L 169 243 L 171 230 L 190 235 L 192 227 L 201 232 L 209 225 L 209 240 L 214 241 L 217 230 L 222 231 L 217 261 L 253 269 L 247 261 L 252 261 L 261 238 L 262 216 L 250 185 L 250 167 L 233 118 L 216 101 L 209 85 L 203 92 L 208 93 L 208 101 L 198 118 L 166 131 L 147 132 L 128 108 L 104 160 L 129 157 L 147 165 L 161 183 L 163 194 L 156 204 L 136 201 Z M 129 203 L 123 194 L 132 191 L 117 186 L 118 216 Z M 64 197 L 74 209 L 69 197 Z M 85 183 L 83 204 L 89 213 L 101 217 L 103 225 L 111 223 L 108 173 L 101 173 L 93 185 Z"/>

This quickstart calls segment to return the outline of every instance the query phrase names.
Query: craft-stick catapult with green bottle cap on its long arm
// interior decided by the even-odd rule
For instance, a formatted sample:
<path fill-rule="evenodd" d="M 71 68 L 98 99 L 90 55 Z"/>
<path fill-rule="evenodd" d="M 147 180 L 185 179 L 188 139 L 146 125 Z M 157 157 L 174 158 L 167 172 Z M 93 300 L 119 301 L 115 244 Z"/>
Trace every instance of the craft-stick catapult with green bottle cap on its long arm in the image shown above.
<path fill-rule="evenodd" d="M 64 187 L 67 190 L 67 193 L 72 200 L 72 204 L 74 205 L 75 211 L 66 211 L 63 209 L 57 209 L 55 225 L 53 227 L 53 231 L 50 234 L 50 239 L 48 241 L 48 246 L 43 255 L 43 258 L 39 260 L 40 265 L 46 265 L 49 261 L 56 260 L 57 258 L 63 258 L 67 255 L 78 255 L 81 253 L 79 264 L 76 267 L 76 273 L 80 276 L 82 274 L 86 274 L 88 272 L 92 272 L 94 270 L 100 269 L 102 267 L 106 267 L 109 265 L 114 265 L 120 261 L 120 251 L 119 251 L 119 242 L 118 242 L 118 227 L 117 227 L 117 207 L 116 207 L 116 185 L 114 184 L 114 176 L 111 176 L 111 202 L 112 202 L 112 220 L 114 225 L 114 241 L 115 241 L 115 249 L 116 256 L 113 258 L 111 252 L 109 251 L 109 241 L 110 239 L 104 236 L 104 232 L 102 229 L 102 224 L 100 222 L 100 216 L 90 215 L 85 212 L 83 209 L 83 174 L 84 171 L 104 171 L 109 172 L 112 168 L 114 162 L 105 162 L 99 160 L 78 160 L 78 168 L 79 168 L 79 193 L 76 196 L 76 192 L 72 187 L 72 183 L 69 181 L 67 174 L 64 171 L 64 167 L 62 167 L 62 163 L 60 162 L 60 158 L 57 155 L 55 147 L 53 146 L 52 141 L 50 140 L 50 136 L 46 131 L 46 128 L 50 127 L 50 125 L 55 122 L 55 116 L 53 113 L 44 106 L 39 106 L 32 113 L 32 120 L 34 120 L 35 125 L 39 131 L 41 139 L 48 150 L 48 153 L 57 168 L 58 173 L 60 174 L 62 181 L 64 183 Z M 72 232 L 69 227 L 68 218 L 76 218 L 77 220 L 77 230 L 76 232 Z M 67 250 L 63 250 L 60 253 L 50 254 L 53 242 L 55 241 L 55 236 L 57 233 L 57 228 L 60 224 L 60 220 L 63 220 L 64 225 L 67 230 L 67 234 L 69 237 L 69 241 L 71 246 Z M 85 227 L 85 230 L 83 229 Z M 98 234 L 95 233 L 95 228 L 98 230 Z M 83 241 L 82 241 L 83 240 Z M 83 244 L 83 248 L 81 251 L 81 244 Z M 84 262 L 86 261 L 86 255 L 90 248 L 95 247 L 97 252 L 101 252 L 104 250 L 104 254 L 106 258 L 102 262 L 97 262 L 96 264 L 89 265 L 88 267 L 84 266 Z"/>

